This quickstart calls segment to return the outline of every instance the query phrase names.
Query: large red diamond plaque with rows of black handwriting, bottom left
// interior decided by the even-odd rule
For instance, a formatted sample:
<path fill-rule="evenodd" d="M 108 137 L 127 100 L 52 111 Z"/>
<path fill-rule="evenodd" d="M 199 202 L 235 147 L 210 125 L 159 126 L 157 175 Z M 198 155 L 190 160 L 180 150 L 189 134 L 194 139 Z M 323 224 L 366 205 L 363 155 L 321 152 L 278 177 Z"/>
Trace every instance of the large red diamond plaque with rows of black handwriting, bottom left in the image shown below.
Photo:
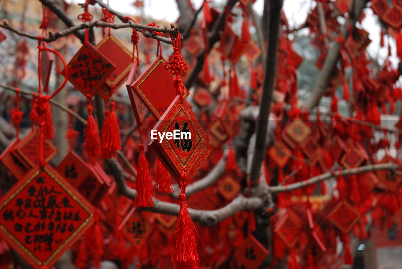
<path fill-rule="evenodd" d="M 0 201 L 0 235 L 34 268 L 51 268 L 94 222 L 95 208 L 49 164 Z"/>

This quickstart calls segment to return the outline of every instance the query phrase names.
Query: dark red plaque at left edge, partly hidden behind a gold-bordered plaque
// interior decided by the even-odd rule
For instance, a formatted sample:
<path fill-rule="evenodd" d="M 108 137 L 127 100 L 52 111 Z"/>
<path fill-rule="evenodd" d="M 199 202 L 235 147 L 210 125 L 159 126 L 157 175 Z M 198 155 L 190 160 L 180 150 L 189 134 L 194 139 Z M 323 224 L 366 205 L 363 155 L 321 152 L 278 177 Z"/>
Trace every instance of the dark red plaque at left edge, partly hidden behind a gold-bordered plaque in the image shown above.
<path fill-rule="evenodd" d="M 16 157 L 15 150 L 19 142 L 20 141 L 14 139 L 0 155 L 0 161 L 2 161 L 2 163 L 17 179 L 21 179 L 30 168 Z"/>

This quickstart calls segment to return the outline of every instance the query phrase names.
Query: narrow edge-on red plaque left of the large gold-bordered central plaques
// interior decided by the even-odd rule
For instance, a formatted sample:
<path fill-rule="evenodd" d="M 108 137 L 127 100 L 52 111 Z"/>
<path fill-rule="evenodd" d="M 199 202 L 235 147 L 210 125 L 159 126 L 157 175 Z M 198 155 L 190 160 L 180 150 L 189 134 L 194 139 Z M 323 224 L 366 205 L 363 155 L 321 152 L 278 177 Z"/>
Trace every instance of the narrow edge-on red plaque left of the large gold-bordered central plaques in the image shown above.
<path fill-rule="evenodd" d="M 128 96 L 130 97 L 131 107 L 133 108 L 135 120 L 137 121 L 137 125 L 143 122 L 145 113 L 147 112 L 147 108 L 144 103 L 139 99 L 138 95 L 134 92 L 131 85 L 135 82 L 135 80 L 141 75 L 141 70 L 139 66 L 135 63 L 131 65 L 130 72 L 127 77 L 126 88 L 128 92 Z"/>

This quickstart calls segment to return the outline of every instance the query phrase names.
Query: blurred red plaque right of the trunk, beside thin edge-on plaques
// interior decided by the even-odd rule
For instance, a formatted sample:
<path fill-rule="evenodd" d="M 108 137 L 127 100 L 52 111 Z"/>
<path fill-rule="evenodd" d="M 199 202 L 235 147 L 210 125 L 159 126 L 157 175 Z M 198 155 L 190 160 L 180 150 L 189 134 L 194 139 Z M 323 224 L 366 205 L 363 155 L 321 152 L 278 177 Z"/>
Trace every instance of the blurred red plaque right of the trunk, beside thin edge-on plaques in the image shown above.
<path fill-rule="evenodd" d="M 275 232 L 289 248 L 294 247 L 302 231 L 301 219 L 292 210 L 287 210 L 275 226 Z"/>

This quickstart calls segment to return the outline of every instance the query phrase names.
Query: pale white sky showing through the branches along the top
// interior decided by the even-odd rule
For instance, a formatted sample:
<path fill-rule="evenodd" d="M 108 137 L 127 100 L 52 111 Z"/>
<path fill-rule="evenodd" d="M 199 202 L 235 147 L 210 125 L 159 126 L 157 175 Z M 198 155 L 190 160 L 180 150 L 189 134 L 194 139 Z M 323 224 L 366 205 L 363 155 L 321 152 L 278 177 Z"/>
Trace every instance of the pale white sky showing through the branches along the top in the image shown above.
<path fill-rule="evenodd" d="M 106 0 L 105 0 L 106 1 Z M 67 0 L 70 3 L 81 3 L 83 0 Z M 134 0 L 109 0 L 110 6 L 120 12 L 127 12 L 132 14 L 140 14 L 139 10 L 133 6 Z M 203 0 L 191 0 L 195 9 L 198 9 Z M 226 0 L 213 0 L 212 2 L 224 3 Z M 253 5 L 254 10 L 258 14 L 263 12 L 264 0 L 256 0 Z M 297 27 L 305 22 L 306 17 L 310 10 L 316 6 L 314 0 L 284 0 L 283 10 L 289 21 L 290 27 Z M 177 4 L 175 0 L 144 0 L 144 15 L 158 20 L 166 20 L 168 22 L 175 22 L 179 16 Z M 388 39 L 384 39 L 384 48 L 379 47 L 380 27 L 376 22 L 377 16 L 373 14 L 371 8 L 365 8 L 366 17 L 362 22 L 362 28 L 369 32 L 371 39 L 370 45 L 367 47 L 368 53 L 372 57 L 378 57 L 379 63 L 384 63 L 388 55 Z M 301 33 L 306 33 L 301 32 Z M 396 45 L 393 38 L 390 38 L 390 45 L 392 55 L 396 55 Z M 391 57 L 392 64 L 397 67 L 398 59 L 394 56 Z"/>

